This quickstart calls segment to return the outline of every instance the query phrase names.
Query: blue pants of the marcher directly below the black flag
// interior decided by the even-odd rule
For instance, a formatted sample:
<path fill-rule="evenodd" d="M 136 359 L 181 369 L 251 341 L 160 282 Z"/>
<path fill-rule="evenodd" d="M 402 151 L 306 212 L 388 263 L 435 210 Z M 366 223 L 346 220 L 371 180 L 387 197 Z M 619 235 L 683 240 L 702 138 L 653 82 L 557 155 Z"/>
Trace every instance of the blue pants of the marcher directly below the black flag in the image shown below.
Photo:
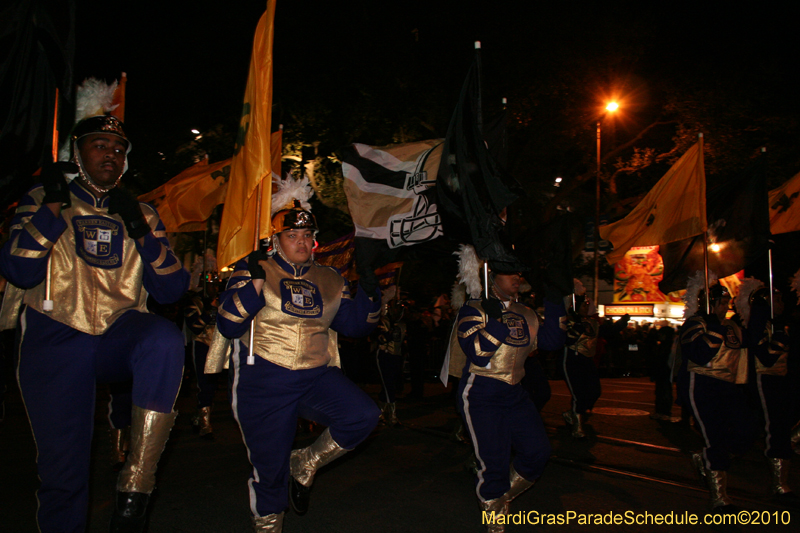
<path fill-rule="evenodd" d="M 458 409 L 480 464 L 478 498 L 493 500 L 508 492 L 512 449 L 514 470 L 528 481 L 538 479 L 550 459 L 550 440 L 522 385 L 464 372 L 458 386 Z"/>

